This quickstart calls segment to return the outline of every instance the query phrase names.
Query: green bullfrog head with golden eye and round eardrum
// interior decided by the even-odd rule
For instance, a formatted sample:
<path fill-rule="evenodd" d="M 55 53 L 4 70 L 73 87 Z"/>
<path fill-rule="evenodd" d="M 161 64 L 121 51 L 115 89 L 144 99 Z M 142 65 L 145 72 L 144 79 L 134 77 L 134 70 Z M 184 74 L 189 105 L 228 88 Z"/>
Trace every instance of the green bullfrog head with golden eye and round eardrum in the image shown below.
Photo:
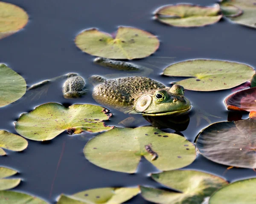
<path fill-rule="evenodd" d="M 184 96 L 185 89 L 180 85 L 154 90 L 141 95 L 131 113 L 148 116 L 183 115 L 191 109 L 190 101 Z"/>

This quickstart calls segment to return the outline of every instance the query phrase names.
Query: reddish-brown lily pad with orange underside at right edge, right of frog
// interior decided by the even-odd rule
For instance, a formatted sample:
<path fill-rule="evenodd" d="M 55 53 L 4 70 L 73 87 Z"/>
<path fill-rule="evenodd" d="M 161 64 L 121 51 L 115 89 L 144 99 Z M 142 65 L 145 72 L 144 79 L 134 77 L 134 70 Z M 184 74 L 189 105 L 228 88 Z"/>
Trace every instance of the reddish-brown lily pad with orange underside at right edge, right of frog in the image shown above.
<path fill-rule="evenodd" d="M 229 95 L 225 99 L 225 105 L 229 110 L 248 111 L 249 117 L 255 119 L 256 111 L 256 87 L 244 89 Z"/>

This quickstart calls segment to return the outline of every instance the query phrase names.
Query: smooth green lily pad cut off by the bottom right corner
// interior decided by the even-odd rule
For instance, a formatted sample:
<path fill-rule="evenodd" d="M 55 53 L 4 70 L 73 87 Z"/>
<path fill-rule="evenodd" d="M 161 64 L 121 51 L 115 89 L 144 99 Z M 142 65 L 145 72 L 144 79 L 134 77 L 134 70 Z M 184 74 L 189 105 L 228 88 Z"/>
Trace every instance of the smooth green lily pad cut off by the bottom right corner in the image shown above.
<path fill-rule="evenodd" d="M 214 193 L 209 204 L 255 204 L 255 189 L 256 178 L 236 181 Z"/>

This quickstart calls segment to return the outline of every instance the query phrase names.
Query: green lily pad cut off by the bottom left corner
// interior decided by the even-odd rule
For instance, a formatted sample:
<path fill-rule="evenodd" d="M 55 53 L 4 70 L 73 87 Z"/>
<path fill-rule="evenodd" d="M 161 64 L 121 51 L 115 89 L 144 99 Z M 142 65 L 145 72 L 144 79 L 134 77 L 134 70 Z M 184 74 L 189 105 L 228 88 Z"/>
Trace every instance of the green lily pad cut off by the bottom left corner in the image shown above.
<path fill-rule="evenodd" d="M 15 191 L 0 191 L 1 204 L 48 204 L 35 196 Z"/>

